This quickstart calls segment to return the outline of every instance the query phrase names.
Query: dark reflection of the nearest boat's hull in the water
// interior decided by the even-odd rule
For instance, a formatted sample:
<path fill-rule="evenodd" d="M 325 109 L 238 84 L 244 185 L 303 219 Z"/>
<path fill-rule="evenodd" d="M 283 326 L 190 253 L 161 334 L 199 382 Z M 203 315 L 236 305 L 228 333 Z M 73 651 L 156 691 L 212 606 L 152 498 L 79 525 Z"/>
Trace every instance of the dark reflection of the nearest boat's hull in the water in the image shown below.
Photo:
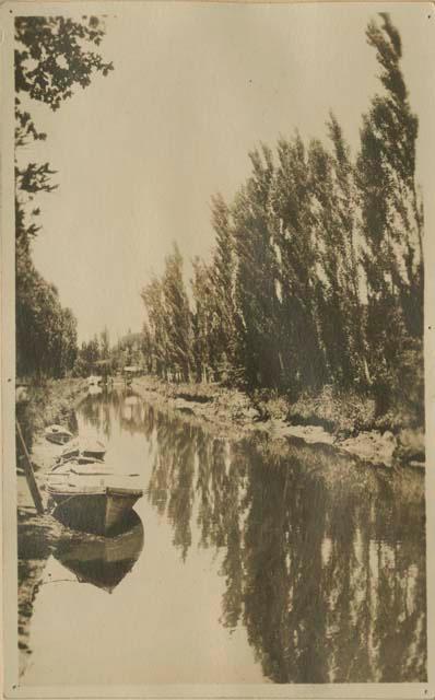
<path fill-rule="evenodd" d="M 131 571 L 142 548 L 142 521 L 132 511 L 126 527 L 115 537 L 63 539 L 52 553 L 80 583 L 91 583 L 111 593 Z"/>

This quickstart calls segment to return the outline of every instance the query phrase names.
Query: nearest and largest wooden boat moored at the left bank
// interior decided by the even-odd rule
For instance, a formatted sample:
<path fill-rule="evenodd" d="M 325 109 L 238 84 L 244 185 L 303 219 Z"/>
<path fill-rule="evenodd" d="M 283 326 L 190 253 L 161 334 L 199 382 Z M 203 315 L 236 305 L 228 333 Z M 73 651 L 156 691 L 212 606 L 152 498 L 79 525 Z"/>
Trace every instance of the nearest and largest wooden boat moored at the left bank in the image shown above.
<path fill-rule="evenodd" d="M 47 478 L 47 492 L 56 503 L 52 514 L 74 529 L 115 533 L 143 495 L 137 476 L 116 474 L 104 462 L 60 463 Z"/>

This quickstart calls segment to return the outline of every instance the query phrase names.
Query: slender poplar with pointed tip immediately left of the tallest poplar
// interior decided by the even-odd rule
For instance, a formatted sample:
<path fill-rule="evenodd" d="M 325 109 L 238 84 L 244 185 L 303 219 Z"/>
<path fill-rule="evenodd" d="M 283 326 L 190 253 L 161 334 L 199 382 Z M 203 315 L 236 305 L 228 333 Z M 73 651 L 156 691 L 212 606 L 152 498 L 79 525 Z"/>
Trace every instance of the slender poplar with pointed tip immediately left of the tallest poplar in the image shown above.
<path fill-rule="evenodd" d="M 309 148 L 313 218 L 319 252 L 318 304 L 330 378 L 338 386 L 366 384 L 364 316 L 356 245 L 356 201 L 349 147 L 333 115 L 327 124 L 332 153 Z"/>

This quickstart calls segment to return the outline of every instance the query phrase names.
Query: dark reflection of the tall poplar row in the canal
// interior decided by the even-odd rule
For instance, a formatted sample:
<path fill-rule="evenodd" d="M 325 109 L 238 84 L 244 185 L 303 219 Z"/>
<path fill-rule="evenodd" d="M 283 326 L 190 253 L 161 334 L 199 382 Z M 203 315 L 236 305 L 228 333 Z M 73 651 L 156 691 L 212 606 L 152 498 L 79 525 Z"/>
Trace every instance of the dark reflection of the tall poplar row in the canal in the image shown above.
<path fill-rule="evenodd" d="M 230 445 L 149 407 L 149 498 L 185 559 L 222 552 L 222 623 L 274 682 L 426 679 L 424 483 L 322 446 Z M 196 508 L 193 508 L 196 505 Z"/>

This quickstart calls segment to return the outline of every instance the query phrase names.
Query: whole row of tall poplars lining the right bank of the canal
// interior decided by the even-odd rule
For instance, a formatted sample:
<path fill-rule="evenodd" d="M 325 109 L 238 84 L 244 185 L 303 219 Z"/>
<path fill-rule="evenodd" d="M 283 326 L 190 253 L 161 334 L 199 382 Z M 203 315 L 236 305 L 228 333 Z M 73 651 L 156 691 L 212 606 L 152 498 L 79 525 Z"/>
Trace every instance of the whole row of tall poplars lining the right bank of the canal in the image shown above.
<path fill-rule="evenodd" d="M 381 89 L 355 158 L 331 114 L 329 140 L 298 133 L 250 153 L 234 200 L 212 200 L 212 259 L 193 261 L 192 304 L 178 248 L 145 285 L 149 370 L 292 395 L 369 388 L 380 404 L 421 365 L 423 211 L 418 119 L 388 14 L 366 30 Z M 408 374 L 407 374 L 408 373 Z M 387 398 L 386 398 L 387 397 Z"/>

